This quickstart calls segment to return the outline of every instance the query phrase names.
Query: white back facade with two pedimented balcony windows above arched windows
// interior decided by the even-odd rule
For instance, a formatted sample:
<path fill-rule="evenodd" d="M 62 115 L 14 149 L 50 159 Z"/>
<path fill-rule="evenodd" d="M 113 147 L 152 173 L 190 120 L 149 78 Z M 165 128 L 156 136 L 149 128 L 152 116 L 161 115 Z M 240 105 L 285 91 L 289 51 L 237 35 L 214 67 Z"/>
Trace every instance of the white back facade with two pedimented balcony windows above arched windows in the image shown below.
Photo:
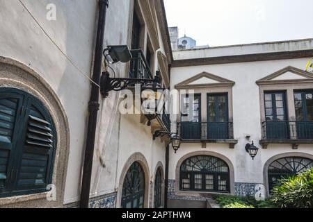
<path fill-rule="evenodd" d="M 170 153 L 170 203 L 210 192 L 264 198 L 284 173 L 312 167 L 312 43 L 174 52 L 171 89 L 193 95 L 179 100 L 193 114 L 172 123 L 183 142 Z M 245 148 L 252 142 L 254 160 Z"/>

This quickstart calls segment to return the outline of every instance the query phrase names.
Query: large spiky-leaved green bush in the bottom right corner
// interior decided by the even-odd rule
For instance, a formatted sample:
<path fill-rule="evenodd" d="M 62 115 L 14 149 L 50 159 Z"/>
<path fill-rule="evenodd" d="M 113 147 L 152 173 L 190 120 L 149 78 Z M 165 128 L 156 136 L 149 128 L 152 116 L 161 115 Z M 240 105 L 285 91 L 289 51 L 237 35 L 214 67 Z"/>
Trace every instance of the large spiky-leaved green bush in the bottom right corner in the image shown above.
<path fill-rule="evenodd" d="M 313 168 L 298 176 L 280 180 L 272 190 L 271 201 L 282 208 L 313 207 Z"/>

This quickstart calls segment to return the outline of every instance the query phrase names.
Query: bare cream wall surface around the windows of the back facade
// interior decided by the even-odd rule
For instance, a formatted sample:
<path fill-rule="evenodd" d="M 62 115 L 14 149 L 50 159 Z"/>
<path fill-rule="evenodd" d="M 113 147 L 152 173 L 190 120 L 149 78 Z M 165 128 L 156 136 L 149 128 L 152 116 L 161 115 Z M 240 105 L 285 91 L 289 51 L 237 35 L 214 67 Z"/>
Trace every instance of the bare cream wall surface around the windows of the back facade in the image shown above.
<path fill-rule="evenodd" d="M 175 67 L 171 69 L 171 89 L 177 83 L 191 78 L 196 74 L 207 71 L 216 76 L 233 80 L 235 85 L 233 95 L 233 120 L 234 139 L 238 144 L 234 149 L 222 144 L 207 144 L 207 148 L 201 148 L 201 144 L 183 144 L 177 154 L 170 154 L 169 178 L 175 179 L 175 167 L 180 157 L 193 151 L 216 151 L 230 158 L 234 164 L 235 182 L 263 183 L 264 163 L 273 155 L 287 152 L 302 152 L 313 154 L 312 144 L 299 145 L 298 150 L 292 150 L 290 144 L 269 144 L 267 149 L 262 149 L 258 142 L 261 139 L 261 117 L 259 104 L 259 87 L 256 80 L 264 78 L 284 67 L 293 66 L 305 69 L 309 58 L 294 60 L 273 60 L 266 62 L 242 62 L 223 65 L 204 65 L 195 67 Z M 312 87 L 313 88 L 313 85 Z M 255 160 L 245 151 L 248 143 L 246 135 L 250 135 L 250 142 L 260 148 Z"/>

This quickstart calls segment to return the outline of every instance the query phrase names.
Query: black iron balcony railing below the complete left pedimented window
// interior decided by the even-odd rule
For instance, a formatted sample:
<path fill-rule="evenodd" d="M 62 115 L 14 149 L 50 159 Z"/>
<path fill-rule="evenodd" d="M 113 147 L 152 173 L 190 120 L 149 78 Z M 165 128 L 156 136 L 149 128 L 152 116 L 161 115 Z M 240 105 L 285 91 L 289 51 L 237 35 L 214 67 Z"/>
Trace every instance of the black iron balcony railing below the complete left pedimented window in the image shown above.
<path fill-rule="evenodd" d="M 177 123 L 183 140 L 234 139 L 232 122 Z"/>

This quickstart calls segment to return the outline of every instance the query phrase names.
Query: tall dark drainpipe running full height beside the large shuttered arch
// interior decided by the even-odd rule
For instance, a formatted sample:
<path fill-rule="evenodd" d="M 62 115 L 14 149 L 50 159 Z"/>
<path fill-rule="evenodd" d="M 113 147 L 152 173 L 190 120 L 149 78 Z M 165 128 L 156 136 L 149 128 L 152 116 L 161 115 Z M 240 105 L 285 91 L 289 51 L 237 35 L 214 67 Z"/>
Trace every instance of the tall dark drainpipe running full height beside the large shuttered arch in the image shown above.
<path fill-rule="evenodd" d="M 81 200 L 79 202 L 80 208 L 88 208 L 90 181 L 93 169 L 93 153 L 95 149 L 95 133 L 97 128 L 97 114 L 99 111 L 99 86 L 100 77 L 102 74 L 102 53 L 104 42 L 104 28 L 106 24 L 106 9 L 109 7 L 109 0 L 99 0 L 99 16 L 97 25 L 97 40 L 95 46 L 95 58 L 93 67 L 93 81 L 92 83 L 90 101 L 88 105 L 88 129 L 85 148 L 85 159 L 83 162 L 83 179 L 81 182 Z"/>

